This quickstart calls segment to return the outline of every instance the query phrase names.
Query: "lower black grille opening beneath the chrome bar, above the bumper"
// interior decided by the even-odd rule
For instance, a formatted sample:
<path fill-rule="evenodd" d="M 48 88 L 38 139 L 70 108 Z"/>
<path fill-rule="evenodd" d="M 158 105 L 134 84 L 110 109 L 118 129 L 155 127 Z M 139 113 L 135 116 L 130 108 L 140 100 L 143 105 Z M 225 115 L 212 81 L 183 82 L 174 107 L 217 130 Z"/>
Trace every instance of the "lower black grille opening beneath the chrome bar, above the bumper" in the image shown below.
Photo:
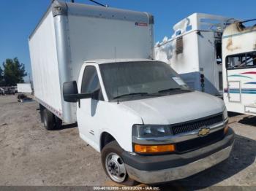
<path fill-rule="evenodd" d="M 224 138 L 224 130 L 217 130 L 214 133 L 210 133 L 207 136 L 198 137 L 196 139 L 191 139 L 188 141 L 182 141 L 176 144 L 176 152 L 184 153 L 189 152 L 200 147 L 206 147 L 209 144 L 214 144 Z"/>

